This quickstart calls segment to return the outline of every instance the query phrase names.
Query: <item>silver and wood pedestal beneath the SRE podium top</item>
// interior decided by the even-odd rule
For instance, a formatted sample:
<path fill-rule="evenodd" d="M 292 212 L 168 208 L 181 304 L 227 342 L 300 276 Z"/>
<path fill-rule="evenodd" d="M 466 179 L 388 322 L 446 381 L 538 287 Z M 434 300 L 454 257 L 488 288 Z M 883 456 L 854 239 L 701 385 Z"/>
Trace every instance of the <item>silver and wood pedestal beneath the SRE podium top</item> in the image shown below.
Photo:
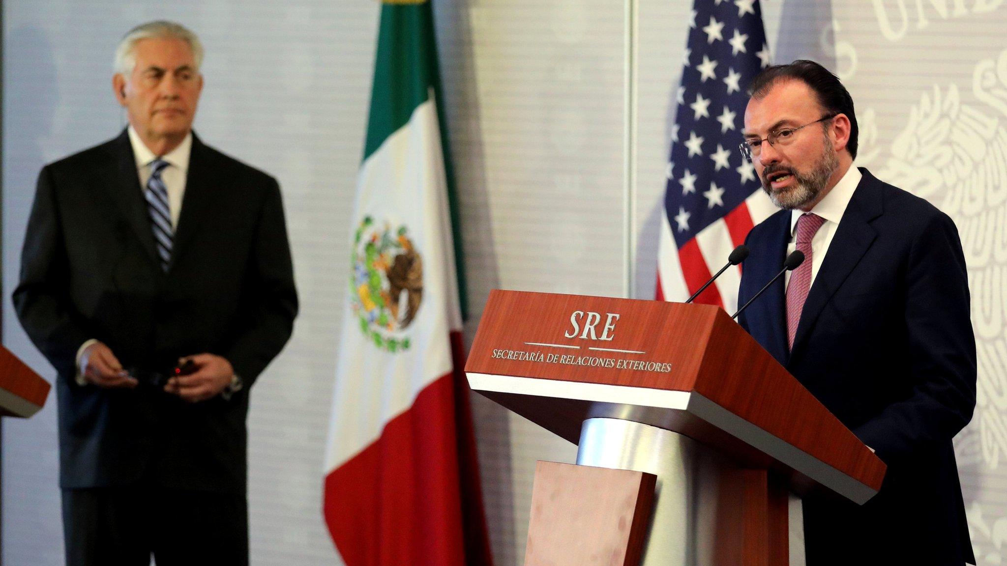
<path fill-rule="evenodd" d="M 640 566 L 804 566 L 800 500 L 764 469 L 695 440 L 612 418 L 584 421 L 577 463 L 657 475 Z"/>

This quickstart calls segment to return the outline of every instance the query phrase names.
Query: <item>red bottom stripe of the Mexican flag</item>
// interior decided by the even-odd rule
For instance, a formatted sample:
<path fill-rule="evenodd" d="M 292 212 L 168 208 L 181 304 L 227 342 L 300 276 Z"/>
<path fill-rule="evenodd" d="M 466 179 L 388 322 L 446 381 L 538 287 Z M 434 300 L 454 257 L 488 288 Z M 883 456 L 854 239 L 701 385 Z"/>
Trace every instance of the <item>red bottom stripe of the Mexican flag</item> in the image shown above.
<path fill-rule="evenodd" d="M 468 387 L 457 370 L 460 334 L 451 337 L 456 370 L 325 477 L 325 522 L 347 566 L 492 564 Z"/>

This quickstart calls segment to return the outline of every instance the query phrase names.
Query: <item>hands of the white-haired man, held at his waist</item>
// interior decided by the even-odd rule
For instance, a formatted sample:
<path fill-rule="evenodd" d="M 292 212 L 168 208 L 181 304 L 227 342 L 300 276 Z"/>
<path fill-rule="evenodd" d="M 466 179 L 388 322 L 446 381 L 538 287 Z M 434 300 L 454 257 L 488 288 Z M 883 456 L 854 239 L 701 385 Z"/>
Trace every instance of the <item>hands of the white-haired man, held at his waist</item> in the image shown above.
<path fill-rule="evenodd" d="M 181 365 L 191 361 L 195 370 L 185 376 L 174 376 L 164 386 L 164 391 L 177 395 L 185 401 L 195 403 L 219 395 L 235 375 L 235 369 L 226 358 L 215 353 L 196 353 L 178 361 Z M 123 370 L 122 364 L 112 349 L 102 342 L 95 342 L 81 355 L 81 374 L 89 383 L 104 388 L 132 389 L 137 386 L 136 378 Z"/>

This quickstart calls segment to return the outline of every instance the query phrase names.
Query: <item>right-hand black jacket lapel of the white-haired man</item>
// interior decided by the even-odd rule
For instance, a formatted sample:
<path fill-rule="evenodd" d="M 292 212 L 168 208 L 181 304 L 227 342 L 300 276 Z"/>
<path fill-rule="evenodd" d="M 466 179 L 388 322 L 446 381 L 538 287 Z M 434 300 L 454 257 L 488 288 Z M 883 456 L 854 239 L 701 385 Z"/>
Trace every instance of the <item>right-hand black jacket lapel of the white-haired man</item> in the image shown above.
<path fill-rule="evenodd" d="M 212 163 L 212 154 L 193 133 L 192 152 L 185 175 L 185 195 L 182 197 L 182 210 L 178 217 L 171 252 L 172 265 L 191 246 L 199 227 L 212 222 L 213 195 L 217 192 L 213 189 L 223 182 L 219 174 Z"/>

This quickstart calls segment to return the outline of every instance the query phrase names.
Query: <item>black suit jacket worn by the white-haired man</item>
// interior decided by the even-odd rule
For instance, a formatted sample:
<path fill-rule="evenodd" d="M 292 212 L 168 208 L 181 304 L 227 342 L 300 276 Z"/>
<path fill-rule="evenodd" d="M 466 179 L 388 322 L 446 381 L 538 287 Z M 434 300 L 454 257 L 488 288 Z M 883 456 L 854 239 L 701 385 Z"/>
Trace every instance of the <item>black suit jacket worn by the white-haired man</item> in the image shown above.
<path fill-rule="evenodd" d="M 141 477 L 244 493 L 248 390 L 290 336 L 297 294 L 280 189 L 193 136 L 167 273 L 158 265 L 129 137 L 42 168 L 13 294 L 58 378 L 60 484 Z M 154 387 L 75 382 L 89 338 L 138 374 L 181 356 L 227 358 L 246 388 L 186 403 Z"/>

